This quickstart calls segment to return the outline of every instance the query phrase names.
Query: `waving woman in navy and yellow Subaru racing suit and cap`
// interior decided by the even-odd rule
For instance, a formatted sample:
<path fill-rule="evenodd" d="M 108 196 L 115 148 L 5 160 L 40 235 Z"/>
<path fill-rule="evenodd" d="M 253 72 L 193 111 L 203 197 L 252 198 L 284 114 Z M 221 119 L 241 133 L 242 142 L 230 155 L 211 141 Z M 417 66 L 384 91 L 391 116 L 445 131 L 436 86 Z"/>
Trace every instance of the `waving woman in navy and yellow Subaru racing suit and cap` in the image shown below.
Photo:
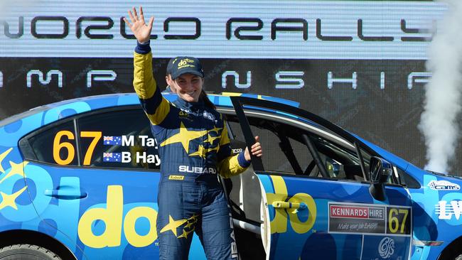
<path fill-rule="evenodd" d="M 154 17 L 146 25 L 143 10 L 129 11 L 124 18 L 138 40 L 134 53 L 134 89 L 151 121 L 159 142 L 160 259 L 188 259 L 195 231 L 208 259 L 237 259 L 232 220 L 217 173 L 225 177 L 242 173 L 249 166 L 248 149 L 231 156 L 225 122 L 203 92 L 204 72 L 198 59 L 178 57 L 171 68 L 172 85 L 178 94 L 168 102 L 156 86 L 152 73 L 149 36 Z M 201 94 L 203 93 L 203 94 Z M 254 156 L 262 156 L 255 138 Z"/>

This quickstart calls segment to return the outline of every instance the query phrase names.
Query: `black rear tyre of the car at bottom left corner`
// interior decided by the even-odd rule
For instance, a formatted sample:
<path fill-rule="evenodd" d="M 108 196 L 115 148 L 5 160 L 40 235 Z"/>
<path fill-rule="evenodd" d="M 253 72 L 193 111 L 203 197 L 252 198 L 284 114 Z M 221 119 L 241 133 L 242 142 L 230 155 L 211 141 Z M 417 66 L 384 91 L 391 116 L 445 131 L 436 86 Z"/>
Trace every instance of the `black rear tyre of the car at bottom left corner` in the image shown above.
<path fill-rule="evenodd" d="M 43 247 L 34 244 L 14 244 L 0 249 L 1 260 L 60 260 L 61 258 Z"/>

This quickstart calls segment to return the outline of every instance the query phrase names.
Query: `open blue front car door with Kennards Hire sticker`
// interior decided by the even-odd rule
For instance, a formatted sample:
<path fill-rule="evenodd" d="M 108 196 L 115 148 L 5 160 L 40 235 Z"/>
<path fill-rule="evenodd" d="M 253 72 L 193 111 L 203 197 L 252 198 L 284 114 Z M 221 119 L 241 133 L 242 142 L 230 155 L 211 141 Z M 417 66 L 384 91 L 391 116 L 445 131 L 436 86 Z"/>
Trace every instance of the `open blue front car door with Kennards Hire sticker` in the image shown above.
<path fill-rule="evenodd" d="M 370 163 L 382 160 L 375 151 L 301 109 L 231 100 L 228 121 L 240 124 L 248 147 L 255 134 L 264 149 L 252 167 L 262 189 L 266 259 L 409 259 L 412 201 L 392 170 L 370 182 Z"/>

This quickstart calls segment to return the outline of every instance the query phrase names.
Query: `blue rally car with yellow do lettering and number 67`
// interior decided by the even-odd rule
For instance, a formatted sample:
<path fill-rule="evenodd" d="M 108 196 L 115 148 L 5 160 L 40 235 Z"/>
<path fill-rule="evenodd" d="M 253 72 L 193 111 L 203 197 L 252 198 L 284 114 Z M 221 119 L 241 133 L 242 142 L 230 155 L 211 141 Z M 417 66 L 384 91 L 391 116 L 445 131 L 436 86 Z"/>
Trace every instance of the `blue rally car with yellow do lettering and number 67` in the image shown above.
<path fill-rule="evenodd" d="M 210 99 L 233 151 L 253 136 L 264 148 L 245 173 L 221 179 L 241 259 L 462 259 L 461 179 L 421 170 L 296 102 Z M 0 259 L 157 259 L 161 163 L 135 94 L 0 121 Z M 190 259 L 205 259 L 195 235 Z"/>

